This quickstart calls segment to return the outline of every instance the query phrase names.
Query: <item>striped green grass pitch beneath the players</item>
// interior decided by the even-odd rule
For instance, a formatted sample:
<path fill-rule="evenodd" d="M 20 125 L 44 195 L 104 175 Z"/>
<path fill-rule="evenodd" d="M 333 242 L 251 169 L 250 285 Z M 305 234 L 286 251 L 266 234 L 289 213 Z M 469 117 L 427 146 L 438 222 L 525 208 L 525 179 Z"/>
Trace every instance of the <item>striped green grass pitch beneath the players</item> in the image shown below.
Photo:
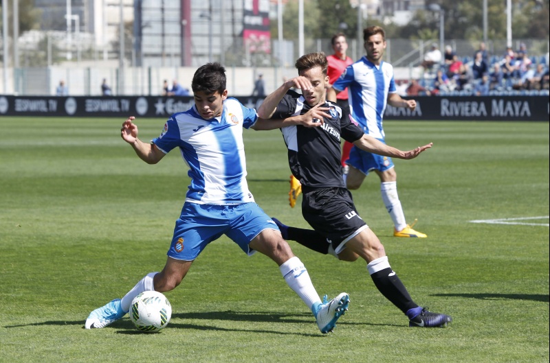
<path fill-rule="evenodd" d="M 548 362 L 548 226 L 470 220 L 549 214 L 549 124 L 386 121 L 409 222 L 427 239 L 392 237 L 375 175 L 353 196 L 417 303 L 454 318 L 409 328 L 353 264 L 290 242 L 320 295 L 349 292 L 335 333 L 263 255 L 212 243 L 166 296 L 170 324 L 140 333 L 126 316 L 85 330 L 89 312 L 164 266 L 188 185 L 177 151 L 146 165 L 120 139 L 122 119 L 0 118 L 0 362 Z M 162 119 L 137 119 L 143 140 Z M 288 206 L 281 134 L 245 131 L 248 180 L 270 215 Z M 519 222 L 548 224 L 548 218 Z"/>

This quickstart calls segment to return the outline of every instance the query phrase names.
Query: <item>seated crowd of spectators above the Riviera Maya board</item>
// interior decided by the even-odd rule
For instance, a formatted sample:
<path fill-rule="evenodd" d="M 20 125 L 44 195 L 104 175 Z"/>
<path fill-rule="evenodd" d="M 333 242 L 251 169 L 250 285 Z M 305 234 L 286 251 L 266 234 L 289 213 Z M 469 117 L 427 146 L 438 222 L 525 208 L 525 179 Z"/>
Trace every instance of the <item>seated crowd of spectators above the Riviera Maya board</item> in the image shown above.
<path fill-rule="evenodd" d="M 548 58 L 530 57 L 523 43 L 502 56 L 489 56 L 481 43 L 471 58 L 456 55 L 450 45 L 441 54 L 434 43 L 421 64 L 423 77 L 399 86 L 409 96 L 549 95 Z"/>

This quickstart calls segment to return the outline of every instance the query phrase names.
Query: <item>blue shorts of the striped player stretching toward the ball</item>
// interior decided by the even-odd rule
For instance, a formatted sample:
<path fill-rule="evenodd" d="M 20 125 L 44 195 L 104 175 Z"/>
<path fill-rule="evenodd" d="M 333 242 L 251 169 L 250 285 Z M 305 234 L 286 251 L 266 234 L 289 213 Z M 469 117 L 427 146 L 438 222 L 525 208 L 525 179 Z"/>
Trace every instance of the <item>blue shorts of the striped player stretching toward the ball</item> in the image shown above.
<path fill-rule="evenodd" d="M 176 221 L 167 255 L 193 261 L 210 242 L 227 235 L 250 256 L 256 251 L 248 244 L 264 229 L 279 230 L 256 203 L 213 205 L 186 202 Z"/>

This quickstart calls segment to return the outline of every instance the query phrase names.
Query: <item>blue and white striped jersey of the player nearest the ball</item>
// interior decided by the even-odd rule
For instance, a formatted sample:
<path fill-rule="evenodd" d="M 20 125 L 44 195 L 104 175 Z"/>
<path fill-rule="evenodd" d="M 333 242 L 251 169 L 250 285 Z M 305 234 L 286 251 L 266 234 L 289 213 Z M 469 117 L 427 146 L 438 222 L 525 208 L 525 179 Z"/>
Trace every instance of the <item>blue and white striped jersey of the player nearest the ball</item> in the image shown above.
<path fill-rule="evenodd" d="M 243 127 L 256 123 L 256 110 L 234 98 L 223 102 L 221 117 L 206 120 L 192 106 L 175 113 L 153 143 L 164 153 L 179 147 L 189 167 L 186 202 L 232 205 L 254 202 L 246 182 Z"/>

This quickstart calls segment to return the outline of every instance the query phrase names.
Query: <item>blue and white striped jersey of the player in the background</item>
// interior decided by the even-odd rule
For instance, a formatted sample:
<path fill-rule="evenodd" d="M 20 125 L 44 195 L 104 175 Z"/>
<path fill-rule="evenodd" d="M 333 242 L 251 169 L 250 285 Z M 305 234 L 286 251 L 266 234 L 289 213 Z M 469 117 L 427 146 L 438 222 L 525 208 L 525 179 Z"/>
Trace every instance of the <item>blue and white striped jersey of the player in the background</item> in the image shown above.
<path fill-rule="evenodd" d="M 332 85 L 342 91 L 348 87 L 351 117 L 366 134 L 384 140 L 382 118 L 388 102 L 388 93 L 395 93 L 393 67 L 386 62 L 376 66 L 363 56 L 349 65 Z"/>

